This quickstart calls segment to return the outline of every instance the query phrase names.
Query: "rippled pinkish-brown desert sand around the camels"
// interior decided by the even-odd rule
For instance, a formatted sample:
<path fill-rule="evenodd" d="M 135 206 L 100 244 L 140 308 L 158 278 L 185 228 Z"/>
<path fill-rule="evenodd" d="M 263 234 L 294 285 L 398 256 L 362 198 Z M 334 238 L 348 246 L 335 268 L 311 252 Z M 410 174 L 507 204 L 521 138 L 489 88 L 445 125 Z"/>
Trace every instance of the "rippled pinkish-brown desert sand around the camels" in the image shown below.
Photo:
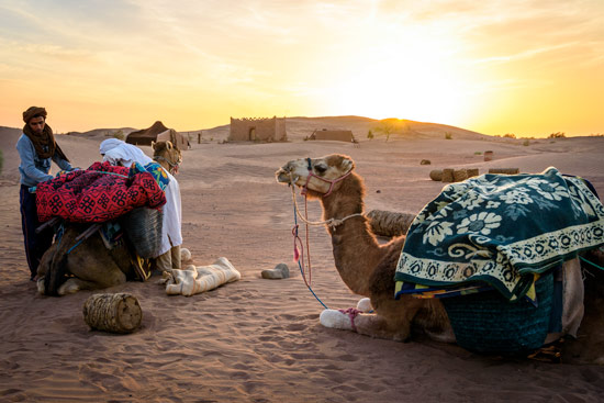
<path fill-rule="evenodd" d="M 312 128 L 312 127 L 311 127 Z M 300 131 L 302 133 L 302 131 Z M 311 130 L 312 132 L 312 130 Z M 18 133 L 19 134 L 19 133 Z M 40 295 L 29 281 L 19 212 L 18 134 L 2 133 L 0 178 L 0 401 L 2 402 L 597 402 L 604 368 L 499 359 L 426 340 L 395 343 L 324 328 L 321 304 L 292 261 L 290 190 L 275 171 L 293 158 L 351 156 L 367 187 L 366 211 L 416 213 L 444 183 L 433 169 L 555 166 L 589 179 L 604 195 L 604 137 L 530 141 L 441 135 L 338 142 L 193 142 L 178 175 L 183 247 L 197 265 L 224 256 L 242 280 L 168 296 L 156 277 L 102 292 L 127 292 L 143 309 L 130 335 L 90 331 L 83 302 L 98 291 Z M 100 158 L 97 136 L 58 136 L 72 163 Z M 150 147 L 142 147 L 150 154 Z M 478 153 L 493 150 L 485 163 Z M 432 165 L 420 165 L 429 159 Z M 54 166 L 56 172 L 56 166 Z M 301 200 L 301 199 L 300 199 Z M 320 220 L 317 202 L 309 202 Z M 312 227 L 313 289 L 333 309 L 355 306 L 338 277 L 331 240 Z M 265 280 L 279 262 L 293 276 Z"/>

